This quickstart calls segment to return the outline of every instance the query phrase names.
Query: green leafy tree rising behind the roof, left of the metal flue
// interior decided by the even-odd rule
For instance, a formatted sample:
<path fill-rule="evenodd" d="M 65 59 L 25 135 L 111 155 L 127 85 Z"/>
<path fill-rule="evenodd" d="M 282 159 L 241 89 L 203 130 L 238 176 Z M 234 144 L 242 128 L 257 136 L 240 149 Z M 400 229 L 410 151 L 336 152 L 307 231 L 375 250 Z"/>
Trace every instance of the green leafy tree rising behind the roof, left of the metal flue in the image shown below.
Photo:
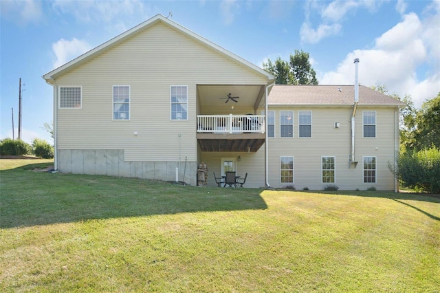
<path fill-rule="evenodd" d="M 275 62 L 268 59 L 263 63 L 263 69 L 275 76 L 277 85 L 318 85 L 316 72 L 309 62 L 309 53 L 295 50 L 290 54 L 288 61 L 281 56 Z"/>

